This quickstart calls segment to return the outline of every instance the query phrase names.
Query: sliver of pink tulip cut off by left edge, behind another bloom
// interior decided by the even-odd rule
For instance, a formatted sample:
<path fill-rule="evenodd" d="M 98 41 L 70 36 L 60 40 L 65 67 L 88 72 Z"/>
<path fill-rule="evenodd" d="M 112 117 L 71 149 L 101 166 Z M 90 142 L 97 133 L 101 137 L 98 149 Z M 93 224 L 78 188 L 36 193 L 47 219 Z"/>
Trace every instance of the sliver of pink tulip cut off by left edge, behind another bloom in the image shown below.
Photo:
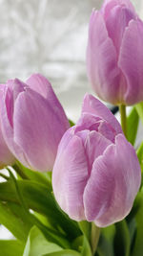
<path fill-rule="evenodd" d="M 0 85 L 0 108 L 1 108 L 2 96 L 3 96 L 3 85 Z M 1 124 L 0 124 L 0 168 L 13 164 L 14 161 L 15 161 L 15 158 L 6 145 L 6 142 L 4 140 L 2 130 L 1 130 Z"/>

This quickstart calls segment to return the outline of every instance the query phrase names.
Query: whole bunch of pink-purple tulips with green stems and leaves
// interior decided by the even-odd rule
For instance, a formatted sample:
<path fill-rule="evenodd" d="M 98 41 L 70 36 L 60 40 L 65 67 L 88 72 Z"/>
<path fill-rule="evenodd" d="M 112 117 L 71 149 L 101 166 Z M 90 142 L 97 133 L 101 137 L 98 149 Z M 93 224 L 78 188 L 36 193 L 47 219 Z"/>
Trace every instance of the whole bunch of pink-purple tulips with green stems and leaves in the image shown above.
<path fill-rule="evenodd" d="M 105 0 L 92 12 L 89 79 L 119 106 L 121 125 L 90 94 L 69 121 L 41 74 L 0 85 L 0 223 L 13 236 L 0 241 L 0 256 L 143 255 L 143 142 L 134 147 L 142 42 L 129 0 Z"/>

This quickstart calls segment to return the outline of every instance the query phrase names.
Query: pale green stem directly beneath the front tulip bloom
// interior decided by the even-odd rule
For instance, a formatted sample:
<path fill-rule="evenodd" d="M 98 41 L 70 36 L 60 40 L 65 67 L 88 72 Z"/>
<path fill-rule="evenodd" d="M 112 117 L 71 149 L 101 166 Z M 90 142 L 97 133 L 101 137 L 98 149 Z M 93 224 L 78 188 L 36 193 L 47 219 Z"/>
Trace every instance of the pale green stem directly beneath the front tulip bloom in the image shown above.
<path fill-rule="evenodd" d="M 91 238 L 91 245 L 92 245 L 92 256 L 94 255 L 100 237 L 100 227 L 96 226 L 94 222 L 92 222 L 92 238 Z"/>

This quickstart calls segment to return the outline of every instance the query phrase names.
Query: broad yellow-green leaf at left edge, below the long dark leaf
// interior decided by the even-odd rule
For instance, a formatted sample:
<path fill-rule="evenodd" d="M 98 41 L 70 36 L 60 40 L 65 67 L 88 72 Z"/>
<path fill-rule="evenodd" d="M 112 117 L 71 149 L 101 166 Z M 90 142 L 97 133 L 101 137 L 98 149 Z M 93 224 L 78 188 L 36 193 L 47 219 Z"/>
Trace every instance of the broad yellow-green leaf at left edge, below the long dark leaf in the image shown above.
<path fill-rule="evenodd" d="M 27 240 L 32 225 L 22 207 L 10 201 L 0 201 L 0 223 L 21 241 Z"/>

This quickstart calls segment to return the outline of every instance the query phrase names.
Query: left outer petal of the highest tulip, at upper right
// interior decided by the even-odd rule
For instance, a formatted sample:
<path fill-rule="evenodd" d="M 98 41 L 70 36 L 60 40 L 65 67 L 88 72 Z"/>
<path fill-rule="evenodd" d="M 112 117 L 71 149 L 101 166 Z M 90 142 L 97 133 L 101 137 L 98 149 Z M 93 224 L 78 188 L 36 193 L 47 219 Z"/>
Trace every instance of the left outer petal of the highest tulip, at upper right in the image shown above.
<path fill-rule="evenodd" d="M 95 93 L 112 104 L 123 103 L 126 82 L 117 66 L 117 55 L 100 12 L 92 12 L 87 48 L 88 76 Z"/>

